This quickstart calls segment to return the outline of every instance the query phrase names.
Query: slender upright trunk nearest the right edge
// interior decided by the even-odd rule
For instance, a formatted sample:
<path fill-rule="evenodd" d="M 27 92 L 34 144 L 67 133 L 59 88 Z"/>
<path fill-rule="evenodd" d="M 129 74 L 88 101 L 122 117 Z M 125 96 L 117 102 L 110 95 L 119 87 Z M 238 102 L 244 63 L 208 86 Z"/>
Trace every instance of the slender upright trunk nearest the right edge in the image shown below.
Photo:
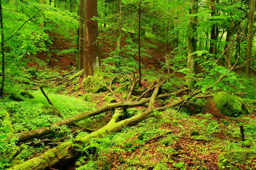
<path fill-rule="evenodd" d="M 250 1 L 250 13 L 249 13 L 249 25 L 248 25 L 248 45 L 247 45 L 247 60 L 251 59 L 251 53 L 253 51 L 253 23 L 254 23 L 254 10 L 255 0 Z M 246 76 L 250 76 L 251 62 L 246 63 Z"/>

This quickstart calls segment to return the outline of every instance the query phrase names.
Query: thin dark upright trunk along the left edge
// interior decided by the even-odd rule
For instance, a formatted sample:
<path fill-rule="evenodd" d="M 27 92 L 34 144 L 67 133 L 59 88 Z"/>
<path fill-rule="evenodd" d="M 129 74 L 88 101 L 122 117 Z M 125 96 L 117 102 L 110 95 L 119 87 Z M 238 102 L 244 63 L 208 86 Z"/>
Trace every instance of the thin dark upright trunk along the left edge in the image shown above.
<path fill-rule="evenodd" d="M 2 1 L 0 1 L 0 24 L 1 24 L 1 53 L 2 53 L 2 82 L 0 88 L 0 97 L 3 97 L 3 88 L 5 87 L 5 34 L 3 32 L 3 11 Z"/>

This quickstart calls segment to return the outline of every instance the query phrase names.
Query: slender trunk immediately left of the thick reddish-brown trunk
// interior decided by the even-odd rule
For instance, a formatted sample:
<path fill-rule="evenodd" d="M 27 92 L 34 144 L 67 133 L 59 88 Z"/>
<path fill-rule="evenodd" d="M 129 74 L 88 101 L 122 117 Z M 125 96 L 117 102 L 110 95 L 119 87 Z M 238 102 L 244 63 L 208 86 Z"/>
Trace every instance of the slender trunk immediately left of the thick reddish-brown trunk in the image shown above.
<path fill-rule="evenodd" d="M 79 69 L 84 68 L 84 5 L 85 1 L 79 1 Z"/>

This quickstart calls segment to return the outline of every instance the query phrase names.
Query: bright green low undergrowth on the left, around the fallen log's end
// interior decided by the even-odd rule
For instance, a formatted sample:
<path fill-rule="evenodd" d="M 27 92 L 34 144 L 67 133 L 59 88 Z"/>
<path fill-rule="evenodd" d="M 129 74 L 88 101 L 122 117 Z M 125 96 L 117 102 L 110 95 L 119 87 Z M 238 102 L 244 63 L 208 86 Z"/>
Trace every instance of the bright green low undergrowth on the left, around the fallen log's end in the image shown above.
<path fill-rule="evenodd" d="M 7 88 L 7 90 L 9 90 Z M 95 104 L 89 101 L 77 99 L 75 97 L 57 95 L 46 91 L 51 102 L 60 111 L 63 118 L 75 116 L 76 114 L 90 111 L 95 108 Z M 19 95 L 22 90 L 10 89 L 9 94 Z M 8 167 L 10 164 L 22 163 L 37 153 L 46 150 L 48 147 L 40 143 L 40 139 L 27 141 L 21 146 L 17 146 L 15 138 L 10 138 L 12 134 L 22 131 L 33 130 L 49 126 L 54 122 L 63 120 L 58 116 L 48 114 L 42 109 L 49 105 L 46 97 L 41 91 L 29 91 L 34 99 L 22 97 L 24 101 L 13 101 L 6 96 L 0 103 L 0 169 Z M 56 141 L 65 141 L 72 138 L 72 131 L 68 126 L 56 127 L 56 134 L 49 134 L 46 138 L 53 138 Z M 15 152 L 20 151 L 13 162 L 10 162 Z"/>

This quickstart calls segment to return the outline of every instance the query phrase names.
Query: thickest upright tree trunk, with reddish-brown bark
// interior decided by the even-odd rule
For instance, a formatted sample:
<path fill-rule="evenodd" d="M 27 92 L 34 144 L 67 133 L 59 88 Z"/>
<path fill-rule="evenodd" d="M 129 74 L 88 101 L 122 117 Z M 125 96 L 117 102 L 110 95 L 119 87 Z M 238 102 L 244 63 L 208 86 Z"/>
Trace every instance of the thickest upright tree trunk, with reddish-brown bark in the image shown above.
<path fill-rule="evenodd" d="M 100 69 L 98 57 L 98 21 L 97 0 L 85 0 L 85 37 L 84 37 L 84 67 L 85 76 L 93 75 L 94 70 Z"/>

